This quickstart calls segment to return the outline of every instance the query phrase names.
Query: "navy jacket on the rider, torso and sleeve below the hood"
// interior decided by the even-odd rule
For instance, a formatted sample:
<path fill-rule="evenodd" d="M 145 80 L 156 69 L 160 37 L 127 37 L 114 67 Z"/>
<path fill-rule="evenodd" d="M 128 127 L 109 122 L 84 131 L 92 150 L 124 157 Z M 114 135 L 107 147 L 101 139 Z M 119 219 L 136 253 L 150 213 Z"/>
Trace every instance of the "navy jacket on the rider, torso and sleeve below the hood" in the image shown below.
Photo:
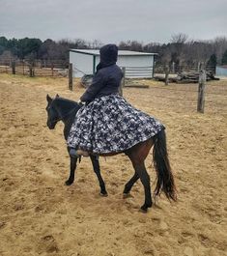
<path fill-rule="evenodd" d="M 123 72 L 116 64 L 99 69 L 80 100 L 90 102 L 95 98 L 118 93 L 122 77 Z"/>

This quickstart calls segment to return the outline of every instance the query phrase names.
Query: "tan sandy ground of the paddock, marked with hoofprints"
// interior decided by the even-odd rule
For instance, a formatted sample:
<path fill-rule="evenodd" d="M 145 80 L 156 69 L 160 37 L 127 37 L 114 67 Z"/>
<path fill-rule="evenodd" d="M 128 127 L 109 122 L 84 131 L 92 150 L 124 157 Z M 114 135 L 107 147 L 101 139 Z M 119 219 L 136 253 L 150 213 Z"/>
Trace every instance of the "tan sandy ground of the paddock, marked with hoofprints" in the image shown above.
<path fill-rule="evenodd" d="M 66 78 L 0 75 L 0 255 L 227 255 L 227 81 L 209 83 L 205 114 L 196 112 L 197 85 L 149 83 L 124 90 L 127 100 L 166 126 L 178 186 L 177 203 L 161 196 L 140 213 L 140 183 L 123 199 L 133 174 L 123 155 L 100 158 L 108 197 L 99 196 L 91 162 L 64 185 L 69 157 L 63 125 L 45 126 L 46 93 L 78 100 Z M 152 185 L 156 174 L 147 161 Z"/>

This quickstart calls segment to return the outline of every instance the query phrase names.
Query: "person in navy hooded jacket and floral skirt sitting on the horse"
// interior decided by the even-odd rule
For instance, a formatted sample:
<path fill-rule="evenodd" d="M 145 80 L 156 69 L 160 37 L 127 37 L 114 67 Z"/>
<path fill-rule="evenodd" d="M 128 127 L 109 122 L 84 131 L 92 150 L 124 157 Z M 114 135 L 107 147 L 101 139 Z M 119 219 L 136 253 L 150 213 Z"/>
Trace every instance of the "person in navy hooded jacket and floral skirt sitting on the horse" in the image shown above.
<path fill-rule="evenodd" d="M 118 47 L 106 44 L 99 52 L 97 73 L 80 98 L 86 104 L 77 112 L 68 137 L 71 156 L 124 152 L 164 128 L 119 96 L 123 73 L 116 65 Z"/>

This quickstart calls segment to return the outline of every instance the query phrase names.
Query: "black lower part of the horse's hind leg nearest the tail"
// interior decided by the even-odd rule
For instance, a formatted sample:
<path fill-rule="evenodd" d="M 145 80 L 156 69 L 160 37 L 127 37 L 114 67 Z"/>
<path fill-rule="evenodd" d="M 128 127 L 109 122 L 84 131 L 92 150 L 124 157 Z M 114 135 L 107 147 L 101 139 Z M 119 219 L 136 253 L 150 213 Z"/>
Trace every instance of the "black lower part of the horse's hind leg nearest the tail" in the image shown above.
<path fill-rule="evenodd" d="M 148 208 L 152 207 L 152 204 L 153 204 L 151 185 L 150 185 L 150 176 L 148 175 L 144 162 L 139 164 L 138 163 L 133 164 L 133 167 L 135 169 L 135 172 L 138 174 L 142 185 L 144 186 L 145 202 L 141 207 L 141 209 L 146 212 Z"/>

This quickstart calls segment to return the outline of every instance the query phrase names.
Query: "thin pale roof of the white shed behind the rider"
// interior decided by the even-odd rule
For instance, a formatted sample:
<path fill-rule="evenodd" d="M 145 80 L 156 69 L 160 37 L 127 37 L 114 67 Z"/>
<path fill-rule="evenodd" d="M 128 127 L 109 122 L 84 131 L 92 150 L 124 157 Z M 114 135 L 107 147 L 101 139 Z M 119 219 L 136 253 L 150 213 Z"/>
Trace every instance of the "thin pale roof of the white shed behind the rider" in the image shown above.
<path fill-rule="evenodd" d="M 70 51 L 99 56 L 98 49 L 70 49 Z M 153 55 L 157 55 L 157 53 L 140 52 L 140 51 L 132 51 L 132 50 L 119 50 L 118 55 L 119 56 L 153 56 Z"/>

